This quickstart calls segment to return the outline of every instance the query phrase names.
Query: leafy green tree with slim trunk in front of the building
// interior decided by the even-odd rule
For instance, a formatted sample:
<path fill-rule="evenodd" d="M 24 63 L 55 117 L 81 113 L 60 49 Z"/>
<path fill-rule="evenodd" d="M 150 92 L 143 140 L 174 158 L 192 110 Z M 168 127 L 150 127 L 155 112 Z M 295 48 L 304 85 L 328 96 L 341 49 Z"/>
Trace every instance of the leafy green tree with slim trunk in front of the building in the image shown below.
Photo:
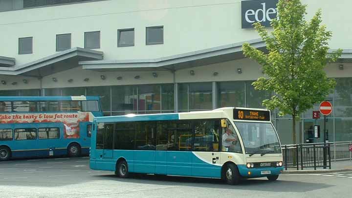
<path fill-rule="evenodd" d="M 306 6 L 300 0 L 279 0 L 279 17 L 271 22 L 271 33 L 260 23 L 254 24 L 268 53 L 248 43 L 242 46 L 244 55 L 262 65 L 266 75 L 252 85 L 275 92 L 263 105 L 271 110 L 277 108 L 281 116 L 292 116 L 293 143 L 297 117 L 323 101 L 335 87 L 335 80 L 329 79 L 323 68 L 342 53 L 341 49 L 328 53 L 332 33 L 321 25 L 320 9 L 309 22 L 305 20 Z"/>

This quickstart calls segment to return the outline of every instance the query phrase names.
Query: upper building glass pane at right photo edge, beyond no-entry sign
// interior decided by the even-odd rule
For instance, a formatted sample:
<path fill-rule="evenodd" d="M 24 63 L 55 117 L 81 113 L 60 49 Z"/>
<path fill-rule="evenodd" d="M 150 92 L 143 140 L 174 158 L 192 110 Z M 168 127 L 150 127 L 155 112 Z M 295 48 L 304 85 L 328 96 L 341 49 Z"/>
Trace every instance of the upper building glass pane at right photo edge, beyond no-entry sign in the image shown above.
<path fill-rule="evenodd" d="M 336 79 L 335 117 L 352 117 L 352 78 Z"/>

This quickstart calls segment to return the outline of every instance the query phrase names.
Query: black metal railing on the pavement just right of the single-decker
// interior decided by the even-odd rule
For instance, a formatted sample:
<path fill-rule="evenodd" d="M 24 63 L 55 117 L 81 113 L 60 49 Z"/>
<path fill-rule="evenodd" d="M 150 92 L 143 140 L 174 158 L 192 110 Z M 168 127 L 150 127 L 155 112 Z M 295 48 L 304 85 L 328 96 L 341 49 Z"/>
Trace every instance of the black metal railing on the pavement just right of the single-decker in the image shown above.
<path fill-rule="evenodd" d="M 282 146 L 284 166 L 287 168 L 322 167 L 331 169 L 330 143 L 293 144 Z"/>

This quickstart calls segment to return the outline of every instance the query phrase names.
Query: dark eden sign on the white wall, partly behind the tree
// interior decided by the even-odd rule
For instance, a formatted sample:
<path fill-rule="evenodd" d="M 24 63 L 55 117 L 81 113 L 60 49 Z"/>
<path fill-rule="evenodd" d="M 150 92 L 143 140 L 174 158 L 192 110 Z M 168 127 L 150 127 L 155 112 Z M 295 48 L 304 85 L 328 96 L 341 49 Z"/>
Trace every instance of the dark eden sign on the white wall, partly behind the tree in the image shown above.
<path fill-rule="evenodd" d="M 260 22 L 265 27 L 277 17 L 276 4 L 279 0 L 242 0 L 242 28 L 252 28 L 253 23 Z"/>

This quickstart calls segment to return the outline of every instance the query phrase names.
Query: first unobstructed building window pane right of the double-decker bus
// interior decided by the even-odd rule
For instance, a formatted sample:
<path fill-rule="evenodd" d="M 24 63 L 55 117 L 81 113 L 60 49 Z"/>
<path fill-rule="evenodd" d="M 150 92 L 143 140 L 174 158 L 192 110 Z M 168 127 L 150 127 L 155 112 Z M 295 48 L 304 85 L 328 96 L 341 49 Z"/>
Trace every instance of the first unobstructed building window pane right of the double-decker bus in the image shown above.
<path fill-rule="evenodd" d="M 112 86 L 112 110 L 123 110 L 129 114 L 137 110 L 137 87 L 135 86 Z"/>

